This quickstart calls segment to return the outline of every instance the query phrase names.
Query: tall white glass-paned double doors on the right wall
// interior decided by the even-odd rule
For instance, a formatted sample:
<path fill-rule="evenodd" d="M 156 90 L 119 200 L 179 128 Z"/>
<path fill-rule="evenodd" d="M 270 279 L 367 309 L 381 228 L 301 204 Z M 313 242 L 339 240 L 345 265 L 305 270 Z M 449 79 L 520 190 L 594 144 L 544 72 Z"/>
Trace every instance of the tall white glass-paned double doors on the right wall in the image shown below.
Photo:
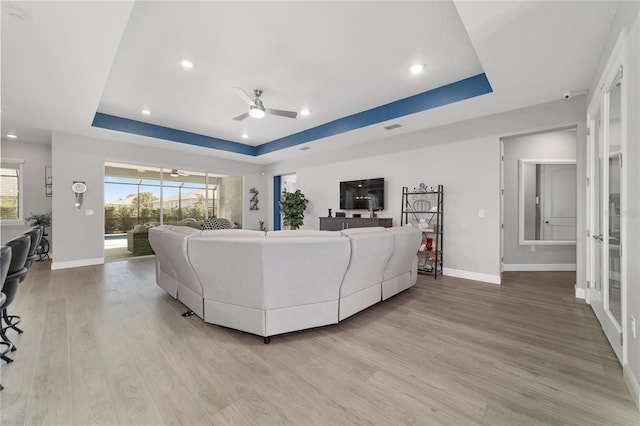
<path fill-rule="evenodd" d="M 622 362 L 622 73 L 603 86 L 601 102 L 588 112 L 591 260 L 588 301 Z"/>

